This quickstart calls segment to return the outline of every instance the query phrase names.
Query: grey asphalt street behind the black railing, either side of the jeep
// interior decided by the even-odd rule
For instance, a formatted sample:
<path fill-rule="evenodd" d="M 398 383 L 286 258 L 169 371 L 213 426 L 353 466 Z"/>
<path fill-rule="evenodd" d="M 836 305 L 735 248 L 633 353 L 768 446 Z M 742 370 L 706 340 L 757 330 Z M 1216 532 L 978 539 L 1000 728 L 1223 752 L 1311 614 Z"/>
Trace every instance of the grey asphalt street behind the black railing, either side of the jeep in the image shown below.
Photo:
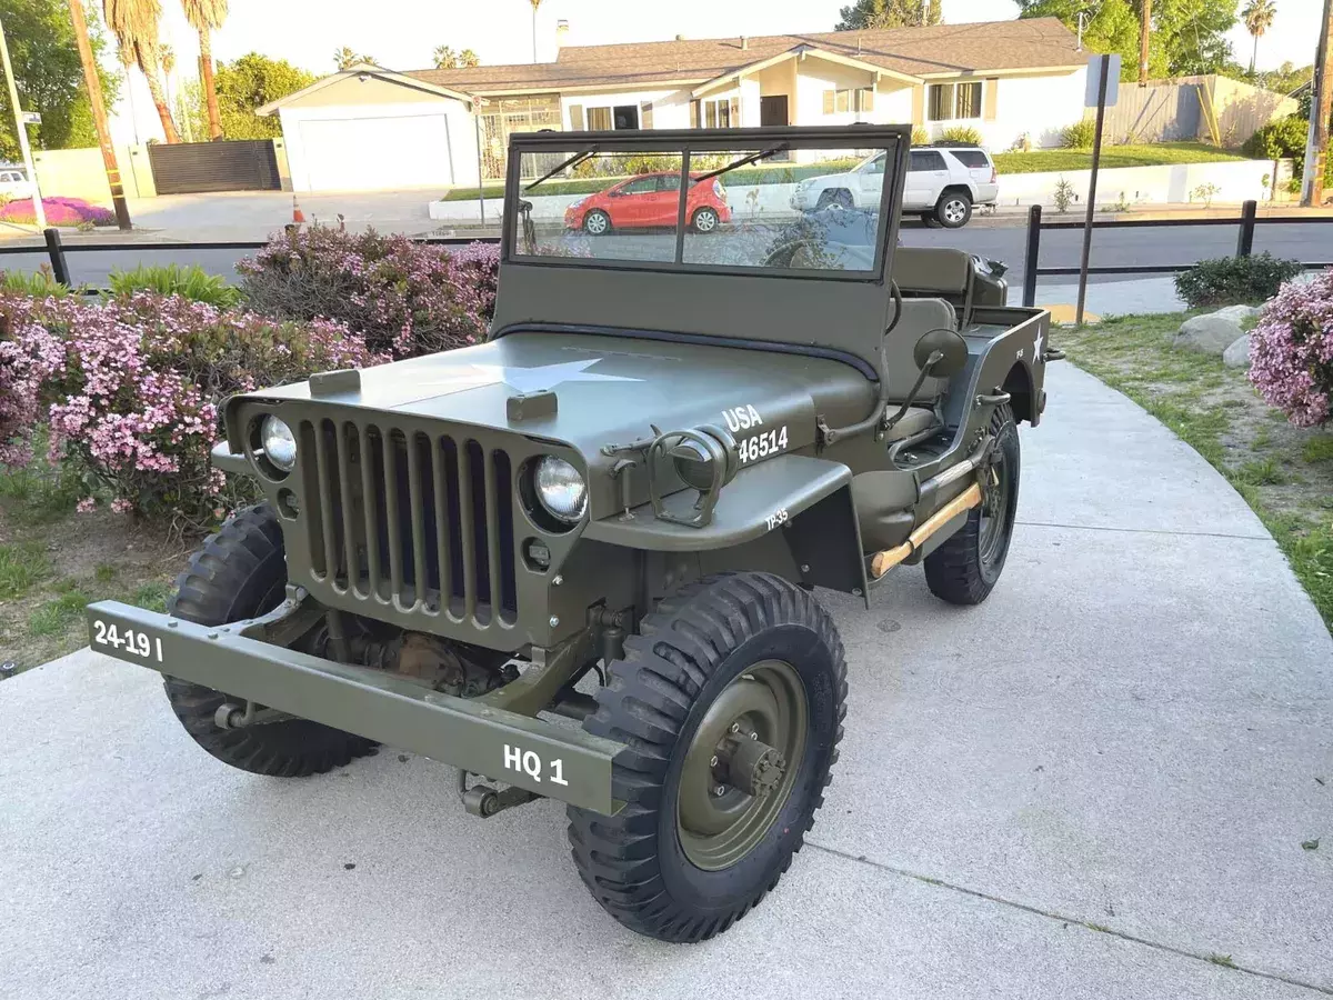
<path fill-rule="evenodd" d="M 1073 219 L 1073 216 L 1069 216 Z M 1233 225 L 1181 227 L 1160 225 L 1134 229 L 1097 229 L 1093 233 L 1093 265 L 1125 267 L 1132 264 L 1192 264 L 1236 252 L 1237 228 Z M 99 240 L 101 241 L 101 240 Z M 978 219 L 957 231 L 928 229 L 909 221 L 902 227 L 902 243 L 909 247 L 957 247 L 1009 265 L 1010 287 L 1021 287 L 1026 229 L 1013 220 Z M 105 287 L 113 269 L 144 264 L 199 264 L 204 269 L 233 279 L 235 263 L 247 252 L 155 249 L 151 243 L 127 245 L 105 252 L 79 252 L 69 241 L 68 261 L 75 283 Z M 1082 231 L 1046 231 L 1041 236 L 1044 267 L 1076 267 Z M 1254 232 L 1254 252 L 1269 251 L 1278 257 L 1302 261 L 1333 261 L 1333 221 L 1322 224 L 1261 224 Z M 0 256 L 0 268 L 37 269 L 45 253 Z M 1134 280 L 1134 276 L 1097 277 L 1097 283 Z M 1068 284 L 1068 277 L 1042 279 L 1042 283 Z"/>

